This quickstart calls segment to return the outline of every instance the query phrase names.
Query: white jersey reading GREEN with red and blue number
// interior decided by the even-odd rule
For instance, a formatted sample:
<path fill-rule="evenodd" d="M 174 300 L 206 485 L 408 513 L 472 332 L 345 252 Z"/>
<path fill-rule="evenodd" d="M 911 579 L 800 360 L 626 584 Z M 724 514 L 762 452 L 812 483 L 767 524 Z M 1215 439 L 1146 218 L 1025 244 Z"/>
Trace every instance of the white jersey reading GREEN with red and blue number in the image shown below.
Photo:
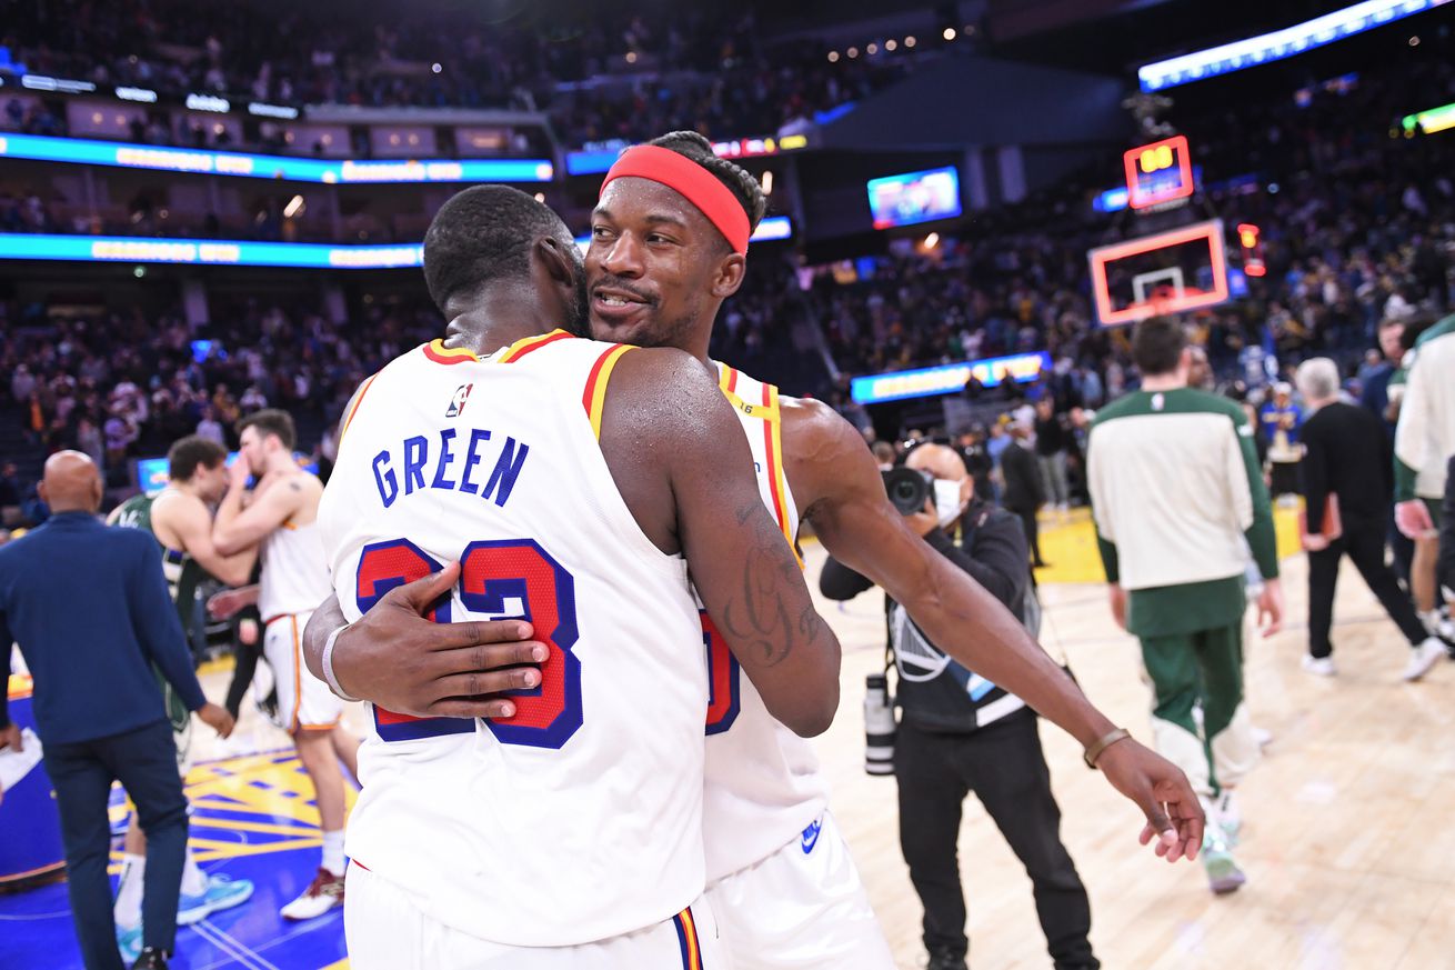
<path fill-rule="evenodd" d="M 349 856 L 499 944 L 633 932 L 704 886 L 698 613 L 597 443 L 627 350 L 557 331 L 404 354 L 355 403 L 319 513 L 351 620 L 458 559 L 438 622 L 525 618 L 550 644 L 512 718 L 371 708 L 359 752 Z"/>

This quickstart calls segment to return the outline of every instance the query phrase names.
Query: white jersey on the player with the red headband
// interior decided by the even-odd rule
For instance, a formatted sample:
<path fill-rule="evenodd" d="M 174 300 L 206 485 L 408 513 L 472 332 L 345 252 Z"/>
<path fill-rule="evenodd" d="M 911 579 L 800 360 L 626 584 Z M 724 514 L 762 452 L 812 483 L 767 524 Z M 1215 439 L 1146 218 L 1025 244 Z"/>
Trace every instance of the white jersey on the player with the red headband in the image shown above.
<path fill-rule="evenodd" d="M 726 364 L 717 364 L 717 377 L 748 435 L 762 501 L 789 543 L 796 545 L 799 513 L 783 470 L 778 389 Z M 828 804 L 828 785 L 813 747 L 768 714 L 706 615 L 704 625 L 711 695 L 703 842 L 707 881 L 716 883 L 799 837 Z"/>

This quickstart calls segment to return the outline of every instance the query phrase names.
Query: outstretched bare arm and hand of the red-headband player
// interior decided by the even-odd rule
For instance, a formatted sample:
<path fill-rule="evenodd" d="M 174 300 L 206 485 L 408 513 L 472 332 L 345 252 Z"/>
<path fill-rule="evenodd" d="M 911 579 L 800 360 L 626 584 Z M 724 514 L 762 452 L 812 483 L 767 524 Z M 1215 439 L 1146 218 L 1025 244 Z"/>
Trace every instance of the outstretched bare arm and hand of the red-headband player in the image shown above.
<path fill-rule="evenodd" d="M 1000 600 L 909 530 L 889 504 L 858 431 L 826 405 L 786 401 L 784 462 L 803 517 L 825 549 L 902 603 L 954 660 L 1026 701 L 1084 747 L 1115 730 Z M 1193 858 L 1203 813 L 1186 776 L 1133 740 L 1097 759 L 1107 781 L 1147 816 L 1142 842 Z"/>

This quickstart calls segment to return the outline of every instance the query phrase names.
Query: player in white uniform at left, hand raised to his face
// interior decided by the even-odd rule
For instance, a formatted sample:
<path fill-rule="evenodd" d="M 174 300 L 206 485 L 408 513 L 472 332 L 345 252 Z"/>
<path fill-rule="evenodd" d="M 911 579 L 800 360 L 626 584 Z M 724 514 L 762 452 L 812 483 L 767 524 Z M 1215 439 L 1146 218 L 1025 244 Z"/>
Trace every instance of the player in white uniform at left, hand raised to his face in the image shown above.
<path fill-rule="evenodd" d="M 212 545 L 227 556 L 260 549 L 263 657 L 278 687 L 278 717 L 313 782 L 323 829 L 323 858 L 313 881 L 279 912 L 284 919 L 314 919 L 343 904 L 345 782 L 339 759 L 355 773 L 358 759 L 358 738 L 339 722 L 343 703 L 308 673 L 300 652 L 308 615 L 332 588 L 317 524 L 323 484 L 292 457 L 297 434 L 288 412 L 258 411 L 237 427 L 242 456 L 228 469 Z M 252 492 L 250 476 L 258 479 Z M 236 604 L 240 609 L 242 600 Z"/>

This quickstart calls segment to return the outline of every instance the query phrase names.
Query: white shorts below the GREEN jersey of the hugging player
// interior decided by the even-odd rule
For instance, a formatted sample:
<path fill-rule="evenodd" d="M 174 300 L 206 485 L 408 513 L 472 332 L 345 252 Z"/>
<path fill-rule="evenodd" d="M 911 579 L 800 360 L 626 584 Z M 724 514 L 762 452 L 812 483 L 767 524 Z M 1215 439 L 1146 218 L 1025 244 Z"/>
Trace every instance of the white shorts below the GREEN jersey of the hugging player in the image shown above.
<path fill-rule="evenodd" d="M 349 864 L 343 934 L 352 970 L 728 970 L 703 897 L 656 926 L 578 947 L 509 947 L 425 915 L 394 883 Z M 602 887 L 602 891 L 610 891 Z"/>

